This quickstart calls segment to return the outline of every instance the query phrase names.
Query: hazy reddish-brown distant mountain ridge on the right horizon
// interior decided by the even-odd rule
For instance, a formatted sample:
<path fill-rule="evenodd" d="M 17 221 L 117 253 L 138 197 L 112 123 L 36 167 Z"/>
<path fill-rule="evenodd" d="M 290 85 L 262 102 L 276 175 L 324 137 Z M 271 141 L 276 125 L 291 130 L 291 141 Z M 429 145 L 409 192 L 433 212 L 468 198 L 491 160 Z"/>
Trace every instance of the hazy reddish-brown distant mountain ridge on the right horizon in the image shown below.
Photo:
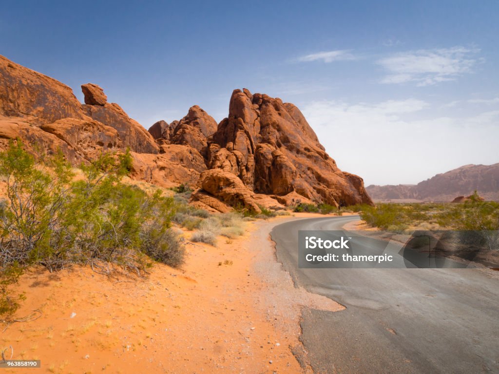
<path fill-rule="evenodd" d="M 373 200 L 417 199 L 452 201 L 468 196 L 474 190 L 486 200 L 499 201 L 499 163 L 494 165 L 464 165 L 460 168 L 420 182 L 417 185 L 387 185 L 366 187 Z"/>

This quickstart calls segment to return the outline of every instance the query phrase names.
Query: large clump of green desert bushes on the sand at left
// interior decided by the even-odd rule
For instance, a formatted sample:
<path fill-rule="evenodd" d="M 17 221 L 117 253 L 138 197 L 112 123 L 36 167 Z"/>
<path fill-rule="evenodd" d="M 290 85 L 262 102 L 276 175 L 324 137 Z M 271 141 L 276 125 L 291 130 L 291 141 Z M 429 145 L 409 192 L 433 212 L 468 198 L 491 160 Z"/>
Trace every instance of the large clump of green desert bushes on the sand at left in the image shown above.
<path fill-rule="evenodd" d="M 74 180 L 61 154 L 40 164 L 20 142 L 0 154 L 0 314 L 16 310 L 20 297 L 8 286 L 28 266 L 56 271 L 88 264 L 109 273 L 117 265 L 143 274 L 152 260 L 183 262 L 184 248 L 170 228 L 173 198 L 122 183 L 129 164 L 128 152 L 103 154 Z"/>

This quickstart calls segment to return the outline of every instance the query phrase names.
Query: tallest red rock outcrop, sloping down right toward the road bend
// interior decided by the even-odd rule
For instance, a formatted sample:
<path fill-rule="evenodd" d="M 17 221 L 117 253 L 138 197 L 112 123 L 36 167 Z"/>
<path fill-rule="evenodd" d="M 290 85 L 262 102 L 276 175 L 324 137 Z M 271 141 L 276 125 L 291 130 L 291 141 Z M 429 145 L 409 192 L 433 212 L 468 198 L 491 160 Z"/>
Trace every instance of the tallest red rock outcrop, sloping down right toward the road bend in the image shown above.
<path fill-rule="evenodd" d="M 341 172 L 301 112 L 278 98 L 235 90 L 213 135 L 208 167 L 238 176 L 255 192 L 335 206 L 372 203 L 360 177 Z"/>

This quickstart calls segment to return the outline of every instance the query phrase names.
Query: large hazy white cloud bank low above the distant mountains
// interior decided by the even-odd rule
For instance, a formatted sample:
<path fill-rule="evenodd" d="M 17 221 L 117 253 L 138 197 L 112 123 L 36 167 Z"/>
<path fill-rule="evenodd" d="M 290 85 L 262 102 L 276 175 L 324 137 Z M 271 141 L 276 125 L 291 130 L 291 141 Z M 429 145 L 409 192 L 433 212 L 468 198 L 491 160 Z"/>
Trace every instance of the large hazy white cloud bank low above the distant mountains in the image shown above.
<path fill-rule="evenodd" d="M 341 170 L 370 184 L 418 183 L 466 164 L 499 162 L 499 111 L 432 116 L 418 99 L 316 101 L 302 112 Z"/>

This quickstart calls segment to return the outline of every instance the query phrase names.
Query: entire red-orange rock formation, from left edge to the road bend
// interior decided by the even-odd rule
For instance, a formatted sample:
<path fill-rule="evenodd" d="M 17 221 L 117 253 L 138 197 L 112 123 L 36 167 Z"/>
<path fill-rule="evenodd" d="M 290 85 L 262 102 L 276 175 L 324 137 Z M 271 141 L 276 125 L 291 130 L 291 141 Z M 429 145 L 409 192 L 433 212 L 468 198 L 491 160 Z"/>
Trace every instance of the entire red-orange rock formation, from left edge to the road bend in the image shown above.
<path fill-rule="evenodd" d="M 132 178 L 198 187 L 191 203 L 211 210 L 372 203 L 362 179 L 339 170 L 298 108 L 278 98 L 235 90 L 219 124 L 195 105 L 146 131 L 96 84 L 81 86 L 80 104 L 69 87 L 2 56 L 0 79 L 0 149 L 18 138 L 74 164 L 129 149 Z"/>

